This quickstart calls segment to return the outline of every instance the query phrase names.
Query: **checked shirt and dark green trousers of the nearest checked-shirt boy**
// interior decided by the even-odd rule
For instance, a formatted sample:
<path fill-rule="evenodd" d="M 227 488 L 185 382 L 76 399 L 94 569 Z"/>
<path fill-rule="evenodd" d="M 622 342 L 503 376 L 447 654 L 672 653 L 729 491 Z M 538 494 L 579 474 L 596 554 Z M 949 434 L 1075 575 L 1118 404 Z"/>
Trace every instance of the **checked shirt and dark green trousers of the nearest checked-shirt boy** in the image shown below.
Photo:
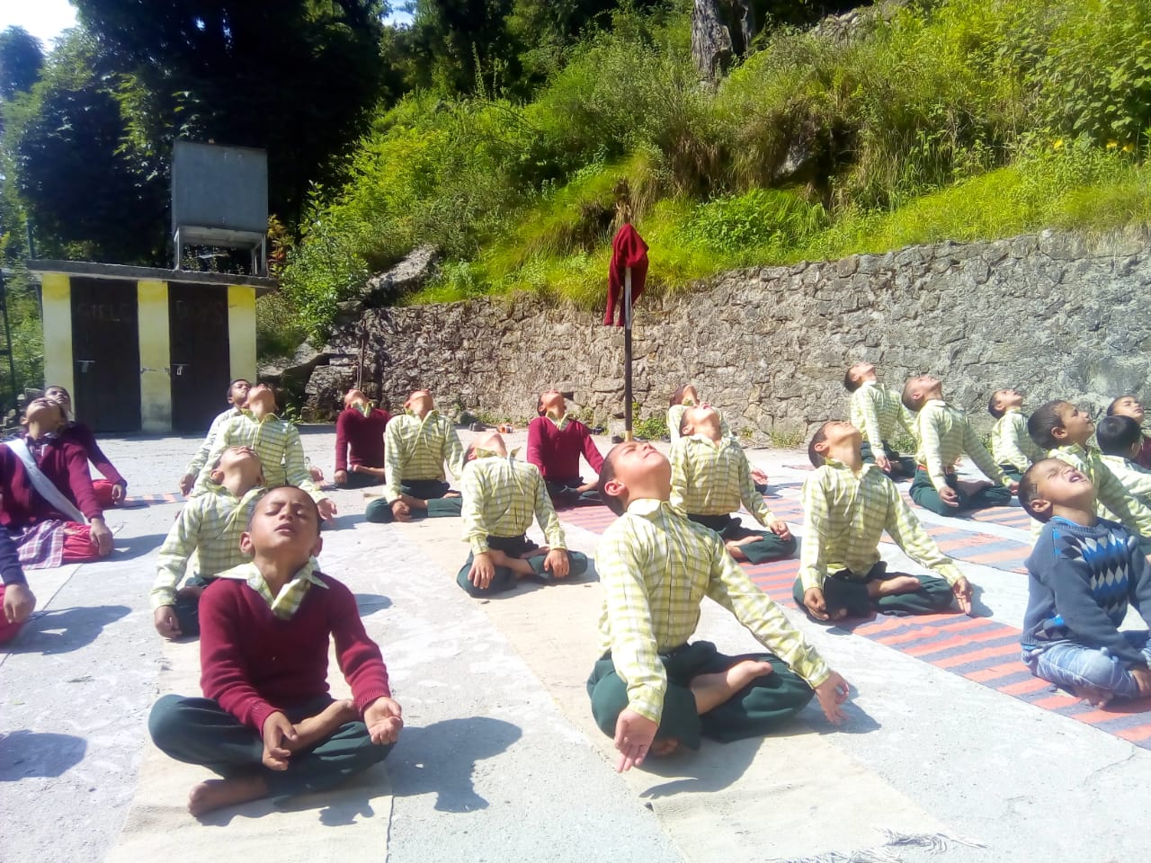
<path fill-rule="evenodd" d="M 669 502 L 633 501 L 596 550 L 603 588 L 603 655 L 587 681 L 592 713 L 613 735 L 630 708 L 658 723 L 656 739 L 696 749 L 700 738 L 767 734 L 802 710 L 831 671 L 737 564 L 723 542 Z M 688 643 L 708 596 L 732 612 L 771 652 L 732 657 L 706 641 Z M 700 716 L 691 680 L 744 658 L 770 662 L 732 698 Z"/>

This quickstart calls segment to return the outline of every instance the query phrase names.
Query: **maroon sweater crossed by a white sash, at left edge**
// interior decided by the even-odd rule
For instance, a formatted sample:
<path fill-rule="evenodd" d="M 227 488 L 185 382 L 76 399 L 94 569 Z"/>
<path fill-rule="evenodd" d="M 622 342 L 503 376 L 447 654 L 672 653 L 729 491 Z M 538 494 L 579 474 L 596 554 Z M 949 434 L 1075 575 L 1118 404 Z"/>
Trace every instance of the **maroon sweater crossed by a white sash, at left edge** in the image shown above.
<path fill-rule="evenodd" d="M 33 456 L 35 448 L 33 449 Z M 87 453 L 77 444 L 62 437 L 53 437 L 36 456 L 40 473 L 52 480 L 64 497 L 76 504 L 76 509 L 89 519 L 101 518 L 104 511 L 92 490 L 92 476 L 87 472 Z M 41 521 L 71 521 L 71 517 L 58 512 L 32 488 L 32 480 L 24 469 L 24 463 L 7 446 L 0 446 L 0 522 L 22 530 Z"/>

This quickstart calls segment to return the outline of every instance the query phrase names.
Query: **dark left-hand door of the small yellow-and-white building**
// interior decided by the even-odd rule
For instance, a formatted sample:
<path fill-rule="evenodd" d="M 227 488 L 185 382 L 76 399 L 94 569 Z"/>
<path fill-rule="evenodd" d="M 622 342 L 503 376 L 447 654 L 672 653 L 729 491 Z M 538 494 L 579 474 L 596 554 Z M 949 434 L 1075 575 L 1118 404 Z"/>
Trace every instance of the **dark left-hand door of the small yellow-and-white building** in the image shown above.
<path fill-rule="evenodd" d="M 69 281 L 73 404 L 77 417 L 93 432 L 139 432 L 140 345 L 136 283 L 76 276 Z"/>

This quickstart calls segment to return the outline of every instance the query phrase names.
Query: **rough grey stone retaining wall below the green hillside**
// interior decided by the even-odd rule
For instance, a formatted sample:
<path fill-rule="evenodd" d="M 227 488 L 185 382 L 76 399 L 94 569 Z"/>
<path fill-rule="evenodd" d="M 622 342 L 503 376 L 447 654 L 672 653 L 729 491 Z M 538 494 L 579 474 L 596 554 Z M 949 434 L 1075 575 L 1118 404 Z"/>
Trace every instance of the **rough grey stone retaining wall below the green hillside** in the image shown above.
<path fill-rule="evenodd" d="M 1142 238 L 1053 232 L 727 273 L 641 299 L 634 398 L 641 417 L 663 413 L 692 381 L 752 440 L 806 437 L 846 415 L 844 371 L 868 359 L 894 387 L 940 376 L 981 427 L 1004 387 L 1029 407 L 1053 397 L 1102 406 L 1144 389 L 1149 284 Z M 331 365 L 313 373 L 310 404 L 334 406 L 363 357 L 366 389 L 394 406 L 426 387 L 445 408 L 521 421 L 557 387 L 608 425 L 623 411 L 623 330 L 601 320 L 529 295 L 368 310 L 326 349 Z"/>

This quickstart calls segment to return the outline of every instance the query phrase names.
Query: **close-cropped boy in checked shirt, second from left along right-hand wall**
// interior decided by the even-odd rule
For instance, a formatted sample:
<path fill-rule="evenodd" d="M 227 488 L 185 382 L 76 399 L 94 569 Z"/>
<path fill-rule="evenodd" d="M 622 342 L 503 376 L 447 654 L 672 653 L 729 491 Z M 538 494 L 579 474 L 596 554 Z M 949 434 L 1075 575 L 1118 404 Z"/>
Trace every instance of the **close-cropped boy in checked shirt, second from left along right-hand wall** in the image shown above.
<path fill-rule="evenodd" d="M 943 400 L 943 384 L 930 375 L 910 379 L 904 387 L 904 406 L 915 418 L 920 451 L 912 480 L 912 499 L 938 515 L 1009 506 L 1019 483 L 1007 478 L 962 411 Z M 955 463 L 967 453 L 992 482 L 960 480 Z"/>

